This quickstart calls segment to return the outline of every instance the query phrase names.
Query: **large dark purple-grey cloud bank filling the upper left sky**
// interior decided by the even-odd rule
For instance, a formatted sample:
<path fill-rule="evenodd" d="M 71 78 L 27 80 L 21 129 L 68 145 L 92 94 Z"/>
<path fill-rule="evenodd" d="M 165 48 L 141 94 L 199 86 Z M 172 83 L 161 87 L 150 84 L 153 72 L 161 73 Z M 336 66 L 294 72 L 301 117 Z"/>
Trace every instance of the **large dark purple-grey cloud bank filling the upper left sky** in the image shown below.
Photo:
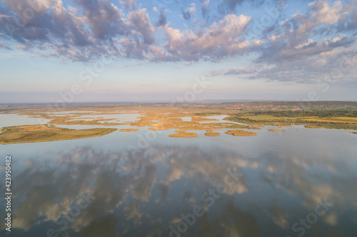
<path fill-rule="evenodd" d="M 154 27 L 145 9 L 131 11 L 124 19 L 122 10 L 108 0 L 74 0 L 76 5 L 67 9 L 61 1 L 34 2 L 39 4 L 36 5 L 40 6 L 38 9 L 31 9 L 26 1 L 6 0 L 7 8 L 1 7 L 5 14 L 0 16 L 0 32 L 21 43 L 23 49 L 49 51 L 39 53 L 41 56 L 88 61 L 102 55 L 121 56 L 133 51 L 130 48 L 120 50 L 116 42 L 118 37 L 135 41 L 136 46 L 150 45 L 155 41 Z M 82 14 L 79 14 L 80 9 Z M 32 11 L 34 15 L 19 25 L 24 11 Z M 144 59 L 144 52 L 139 53 L 142 50 L 136 47 L 135 54 Z"/>

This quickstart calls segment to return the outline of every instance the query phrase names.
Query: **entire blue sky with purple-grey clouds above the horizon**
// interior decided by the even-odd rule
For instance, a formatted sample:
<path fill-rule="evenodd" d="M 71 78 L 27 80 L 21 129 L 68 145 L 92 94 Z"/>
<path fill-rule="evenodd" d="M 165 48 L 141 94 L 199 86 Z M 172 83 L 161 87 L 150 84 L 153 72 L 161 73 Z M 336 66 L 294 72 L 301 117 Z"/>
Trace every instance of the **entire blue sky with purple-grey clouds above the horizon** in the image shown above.
<path fill-rule="evenodd" d="M 0 0 L 0 103 L 357 100 L 357 0 Z"/>

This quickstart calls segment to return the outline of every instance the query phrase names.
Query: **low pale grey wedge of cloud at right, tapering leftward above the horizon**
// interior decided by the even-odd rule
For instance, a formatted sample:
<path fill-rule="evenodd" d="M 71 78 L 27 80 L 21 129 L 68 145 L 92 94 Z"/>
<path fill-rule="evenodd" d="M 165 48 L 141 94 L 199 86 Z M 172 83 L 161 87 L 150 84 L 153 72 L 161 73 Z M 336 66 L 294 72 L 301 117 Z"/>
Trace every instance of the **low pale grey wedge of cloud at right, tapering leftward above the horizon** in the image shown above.
<path fill-rule="evenodd" d="M 308 45 L 306 45 L 308 47 Z M 247 79 L 291 81 L 296 83 L 341 83 L 356 80 L 357 47 L 333 48 L 307 58 L 281 60 L 276 65 L 256 63 L 211 71 L 211 76 L 239 75 Z"/>

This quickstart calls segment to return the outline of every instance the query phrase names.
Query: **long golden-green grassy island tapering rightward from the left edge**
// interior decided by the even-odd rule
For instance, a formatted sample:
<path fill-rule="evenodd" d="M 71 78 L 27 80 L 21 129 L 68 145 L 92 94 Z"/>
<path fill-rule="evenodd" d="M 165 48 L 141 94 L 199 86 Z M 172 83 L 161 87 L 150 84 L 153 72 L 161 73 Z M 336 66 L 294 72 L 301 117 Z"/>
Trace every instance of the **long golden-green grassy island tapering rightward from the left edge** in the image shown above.
<path fill-rule="evenodd" d="M 1 128 L 0 143 L 51 142 L 86 137 L 101 137 L 116 131 L 116 128 L 91 128 L 72 130 L 54 125 L 24 125 Z"/>

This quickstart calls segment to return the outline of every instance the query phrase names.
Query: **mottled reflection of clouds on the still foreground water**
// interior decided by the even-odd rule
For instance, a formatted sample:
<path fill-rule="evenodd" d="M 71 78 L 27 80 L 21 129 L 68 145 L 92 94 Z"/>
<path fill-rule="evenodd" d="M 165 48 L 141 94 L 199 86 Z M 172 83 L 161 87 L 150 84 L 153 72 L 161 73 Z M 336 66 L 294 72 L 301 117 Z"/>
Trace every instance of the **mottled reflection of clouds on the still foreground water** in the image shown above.
<path fill-rule="evenodd" d="M 317 199 L 338 209 L 323 216 L 314 231 L 351 233 L 357 200 L 356 172 L 341 159 L 306 160 L 266 152 L 257 159 L 212 147 L 157 146 L 134 156 L 92 147 L 46 154 L 45 162 L 26 160 L 14 177 L 14 233 L 45 236 L 71 210 L 81 194 L 96 198 L 59 231 L 59 236 L 168 236 L 193 206 L 204 206 L 206 189 L 223 182 L 226 169 L 242 174 L 188 229 L 188 236 L 293 235 L 291 225 L 313 211 Z M 350 205 L 350 206 L 348 206 Z M 207 209 L 206 209 L 207 210 Z M 4 233 L 4 230 L 0 233 Z"/>

